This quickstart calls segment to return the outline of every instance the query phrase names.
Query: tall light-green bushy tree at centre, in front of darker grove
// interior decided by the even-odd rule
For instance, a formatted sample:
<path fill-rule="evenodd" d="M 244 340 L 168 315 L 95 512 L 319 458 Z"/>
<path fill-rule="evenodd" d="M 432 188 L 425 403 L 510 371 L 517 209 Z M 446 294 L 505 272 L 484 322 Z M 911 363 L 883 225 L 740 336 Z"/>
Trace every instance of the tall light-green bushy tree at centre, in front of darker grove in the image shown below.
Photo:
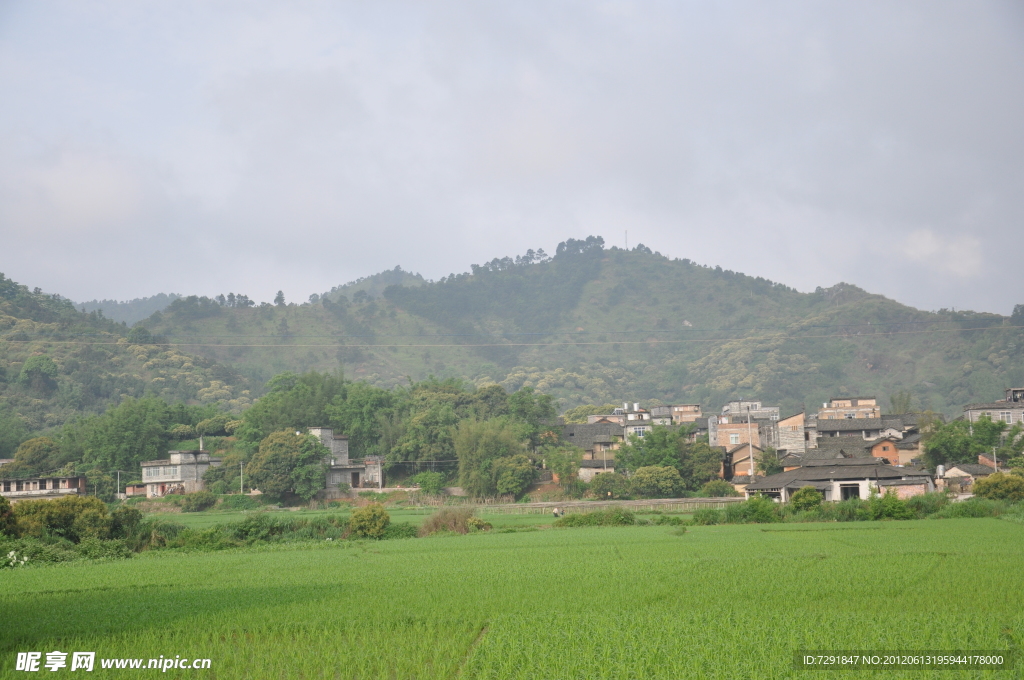
<path fill-rule="evenodd" d="M 499 493 L 499 475 L 509 472 L 506 485 L 511 484 L 518 467 L 516 464 L 502 468 L 497 462 L 522 455 L 523 439 L 521 432 L 505 418 L 464 420 L 459 423 L 455 435 L 455 453 L 459 459 L 459 483 L 463 490 L 470 496 L 493 496 Z"/>

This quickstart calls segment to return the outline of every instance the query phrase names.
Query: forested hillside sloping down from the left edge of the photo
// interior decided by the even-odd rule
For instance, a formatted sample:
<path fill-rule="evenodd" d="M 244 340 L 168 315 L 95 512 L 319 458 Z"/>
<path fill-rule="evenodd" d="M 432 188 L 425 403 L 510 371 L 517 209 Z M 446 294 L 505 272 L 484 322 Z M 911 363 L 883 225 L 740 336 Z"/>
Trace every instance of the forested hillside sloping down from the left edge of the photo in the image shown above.
<path fill-rule="evenodd" d="M 100 413 L 123 396 L 241 410 L 250 401 L 247 390 L 248 381 L 228 367 L 153 344 L 144 329 L 129 331 L 0 274 L 0 458 L 29 432 Z"/>

